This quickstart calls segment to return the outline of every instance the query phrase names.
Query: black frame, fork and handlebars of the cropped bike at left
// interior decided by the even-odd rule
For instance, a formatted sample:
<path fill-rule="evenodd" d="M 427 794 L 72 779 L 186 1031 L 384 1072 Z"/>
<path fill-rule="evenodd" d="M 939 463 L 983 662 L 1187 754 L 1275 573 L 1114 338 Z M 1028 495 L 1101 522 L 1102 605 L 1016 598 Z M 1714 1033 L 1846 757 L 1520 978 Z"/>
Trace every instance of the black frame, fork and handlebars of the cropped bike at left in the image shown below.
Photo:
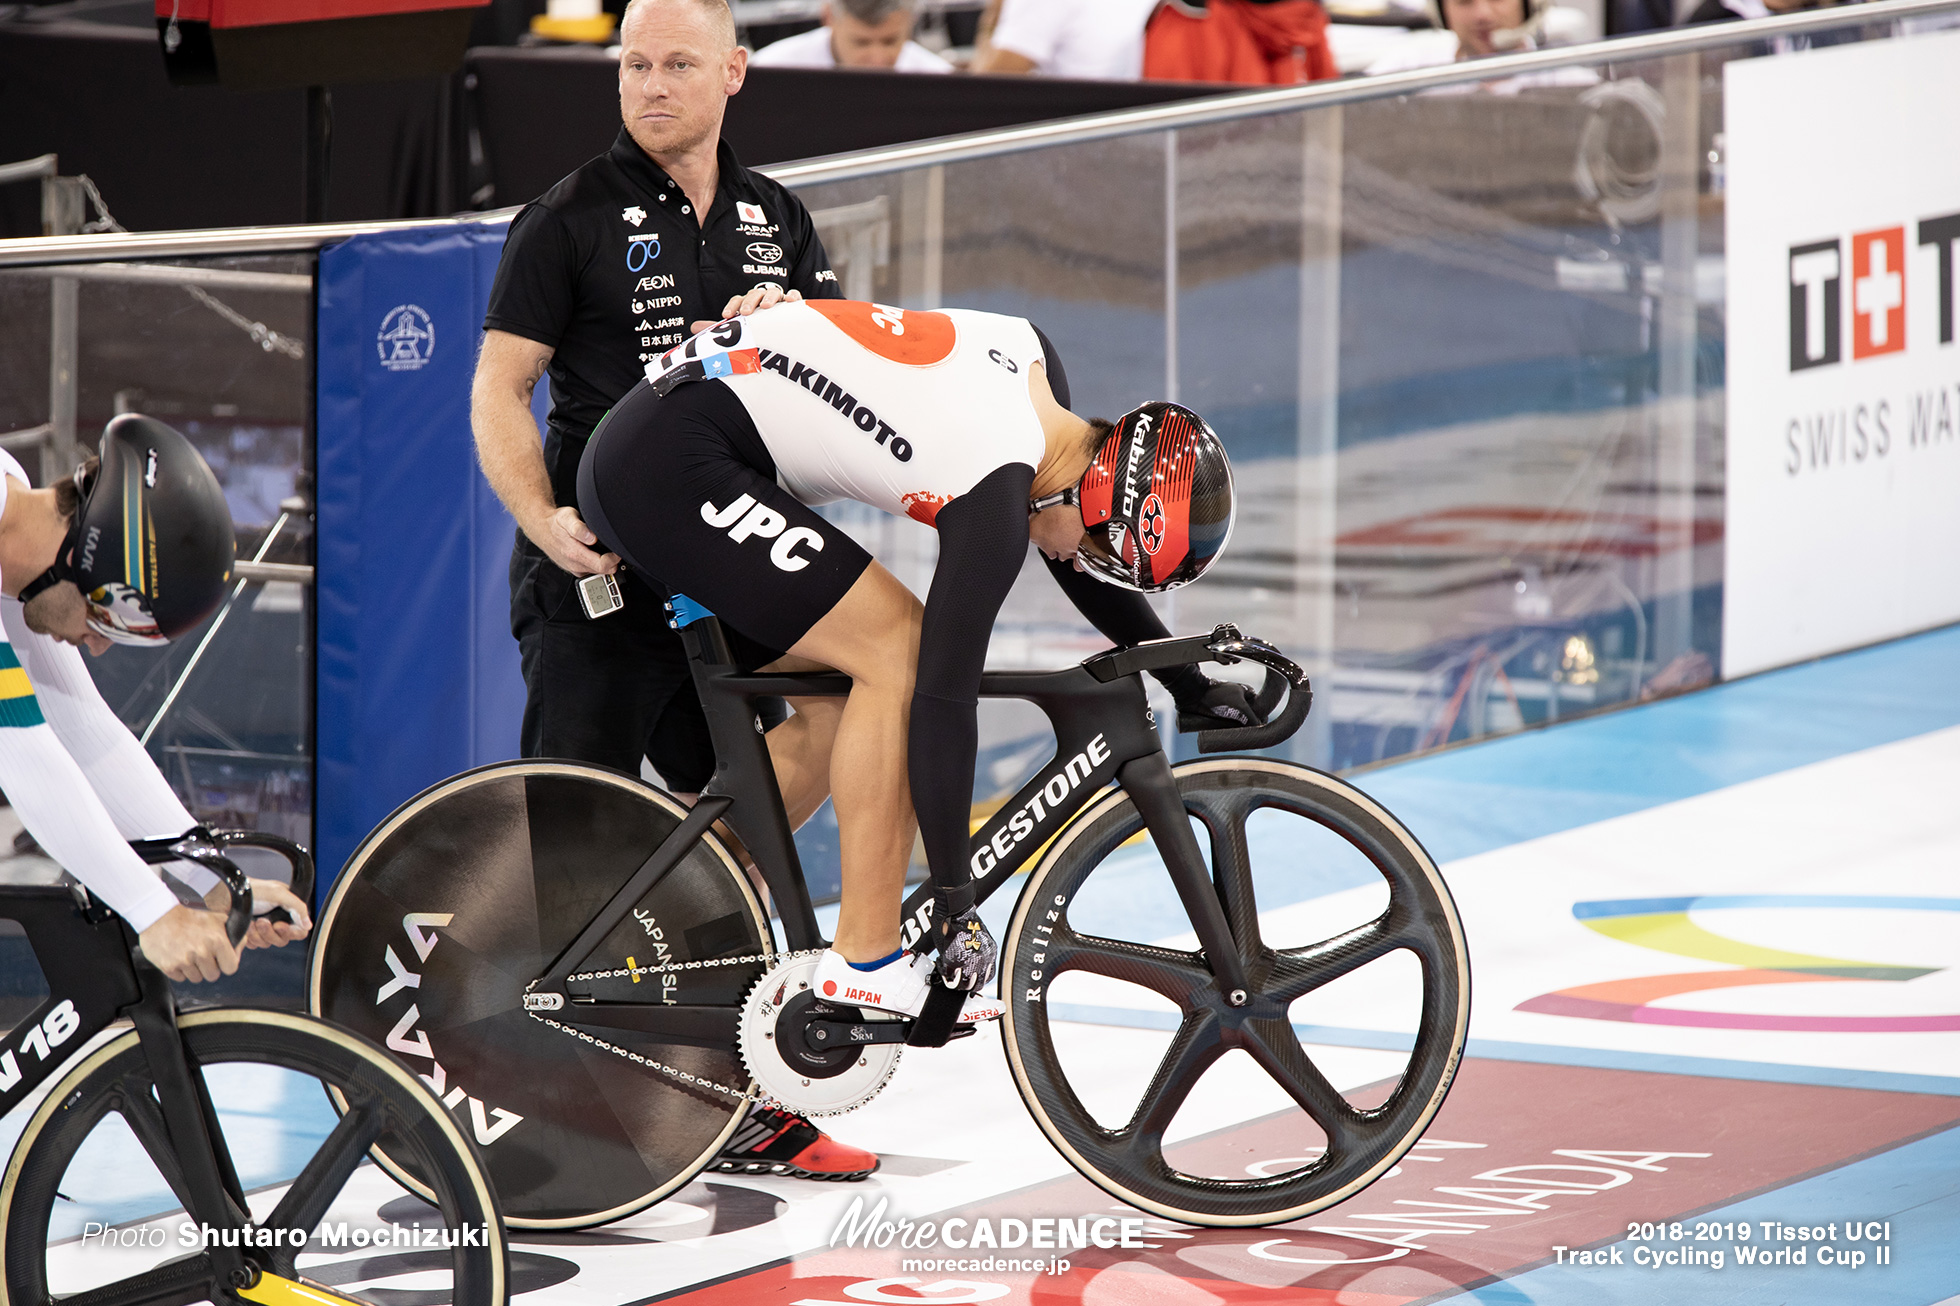
<path fill-rule="evenodd" d="M 251 886 L 221 849 L 245 845 L 282 855 L 292 865 L 294 892 L 302 900 L 312 898 L 312 857 L 278 835 L 223 829 L 204 831 L 192 841 L 139 839 L 131 847 L 151 865 L 196 861 L 216 873 L 231 890 L 225 926 L 237 947 L 251 926 Z M 290 920 L 284 912 L 272 916 Z M 143 1139 L 145 1145 L 153 1157 L 174 1157 L 176 1173 L 165 1179 L 182 1198 L 186 1216 L 214 1230 L 245 1228 L 251 1206 L 231 1155 L 212 1145 L 214 1137 L 221 1137 L 218 1112 L 202 1077 L 190 1073 L 171 982 L 135 951 L 137 939 L 129 926 L 84 888 L 67 884 L 0 888 L 0 920 L 20 924 L 49 988 L 41 1006 L 0 1037 L 0 1116 L 27 1100 L 88 1039 L 127 1018 L 157 1084 L 157 1106 L 167 1131 L 165 1139 Z M 239 1247 L 214 1243 L 208 1255 L 218 1275 L 235 1284 L 257 1277 Z"/>

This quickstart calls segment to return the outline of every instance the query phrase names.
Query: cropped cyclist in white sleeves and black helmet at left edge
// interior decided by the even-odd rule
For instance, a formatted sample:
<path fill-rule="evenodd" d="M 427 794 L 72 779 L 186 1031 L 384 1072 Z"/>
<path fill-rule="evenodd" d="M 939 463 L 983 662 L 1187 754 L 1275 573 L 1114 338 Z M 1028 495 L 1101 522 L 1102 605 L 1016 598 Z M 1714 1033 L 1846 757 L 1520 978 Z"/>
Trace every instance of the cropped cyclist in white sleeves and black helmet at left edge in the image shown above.
<path fill-rule="evenodd" d="M 172 522 L 204 506 L 186 506 L 172 494 L 178 488 L 172 473 L 210 480 L 210 471 L 182 435 L 149 418 L 118 418 L 102 447 L 106 471 L 90 477 L 88 494 L 35 490 L 22 465 L 0 451 L 0 790 L 35 841 L 129 922 L 149 961 L 171 979 L 212 980 L 237 969 L 237 951 L 223 929 L 229 894 L 204 867 L 171 863 L 169 873 L 214 910 L 186 908 L 131 851 L 129 839 L 174 839 L 198 822 L 102 702 L 80 655 L 82 647 L 102 653 L 112 641 L 165 643 L 186 620 L 196 626 L 216 606 L 216 600 L 196 600 L 204 590 L 216 592 L 225 575 L 190 575 L 188 563 L 174 567 L 171 580 L 204 608 L 194 620 L 178 604 L 159 604 L 153 612 L 147 598 L 161 592 L 159 559 L 169 565 L 172 535 L 184 533 L 172 531 Z M 147 486 L 141 484 L 145 475 Z M 114 502 L 116 490 L 123 490 L 122 502 Z M 223 504 L 216 480 L 210 480 L 210 494 Z M 120 541 L 78 529 L 92 520 L 90 508 L 110 516 L 127 508 L 147 527 L 153 547 L 147 559 L 133 559 L 133 575 L 120 569 L 129 559 L 110 557 L 122 553 Z M 204 533 L 216 529 L 204 526 Z M 229 551 L 229 512 L 221 529 Z M 88 571 L 80 571 L 80 553 L 88 553 Z M 86 596 L 78 580 L 88 584 Z M 25 604 L 18 598 L 24 590 L 29 590 Z M 276 880 L 251 880 L 251 888 L 255 908 L 286 908 L 294 924 L 255 920 L 247 947 L 278 947 L 306 935 L 306 904 L 292 890 Z"/>

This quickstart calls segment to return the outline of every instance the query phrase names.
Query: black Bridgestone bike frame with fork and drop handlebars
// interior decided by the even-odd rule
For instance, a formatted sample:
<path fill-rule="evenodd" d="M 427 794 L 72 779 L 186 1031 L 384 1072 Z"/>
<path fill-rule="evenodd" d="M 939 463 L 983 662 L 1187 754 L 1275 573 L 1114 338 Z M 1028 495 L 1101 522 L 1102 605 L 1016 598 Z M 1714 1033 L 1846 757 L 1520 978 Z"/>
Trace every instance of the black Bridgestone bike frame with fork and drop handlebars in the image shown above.
<path fill-rule="evenodd" d="M 680 639 L 688 649 L 694 684 L 700 688 L 715 743 L 715 775 L 688 818 L 653 849 L 639 871 L 545 969 L 527 990 L 525 1004 L 531 1010 L 564 1012 L 561 1020 L 576 1026 L 635 1030 L 676 1043 L 729 1047 L 735 1041 L 739 1016 L 735 1008 L 596 1002 L 568 992 L 566 977 L 586 963 L 627 912 L 680 865 L 717 820 L 735 831 L 760 869 L 782 916 L 786 945 L 794 951 L 825 947 L 755 704 L 764 696 L 843 696 L 851 692 L 851 678 L 837 673 L 745 673 L 729 655 L 721 624 L 711 616 L 680 628 Z M 1266 667 L 1266 684 L 1256 700 L 1260 716 L 1270 716 L 1282 694 L 1288 696 L 1286 710 L 1262 726 L 1201 731 L 1200 751 L 1272 747 L 1299 729 L 1313 702 L 1313 690 L 1298 665 L 1272 645 L 1241 635 L 1233 626 L 1219 626 L 1209 635 L 1152 639 L 1111 649 L 1064 671 L 986 673 L 980 678 L 980 696 L 1021 698 L 1041 708 L 1054 728 L 1056 751 L 972 835 L 968 867 L 974 875 L 974 900 L 986 902 L 1100 790 L 1121 784 L 1164 857 L 1219 986 L 1227 994 L 1243 994 L 1247 979 L 1241 951 L 1233 945 L 1231 926 L 1192 833 L 1139 682 L 1145 671 L 1241 659 Z M 907 949 L 929 947 L 931 914 L 933 884 L 927 880 L 915 886 L 904 904 L 902 937 Z M 956 1002 L 951 1010 L 956 1010 Z M 921 1020 L 931 1020 L 931 1008 Z M 951 1028 L 951 1020 L 945 1024 Z"/>

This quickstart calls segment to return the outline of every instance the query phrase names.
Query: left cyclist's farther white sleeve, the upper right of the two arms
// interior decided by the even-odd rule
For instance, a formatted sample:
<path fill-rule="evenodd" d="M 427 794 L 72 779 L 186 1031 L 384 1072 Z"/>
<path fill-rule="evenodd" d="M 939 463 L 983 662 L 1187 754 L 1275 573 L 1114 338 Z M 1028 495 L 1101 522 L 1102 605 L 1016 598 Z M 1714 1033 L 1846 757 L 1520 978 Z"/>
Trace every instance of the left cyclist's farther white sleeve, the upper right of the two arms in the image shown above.
<path fill-rule="evenodd" d="M 102 700 L 82 651 L 29 631 L 20 604 L 12 598 L 0 600 L 0 626 L 27 671 L 41 716 L 88 777 L 88 786 L 118 833 L 123 839 L 174 839 L 196 826 L 196 818 L 178 802 L 149 753 Z M 196 863 L 178 861 L 167 869 L 198 896 L 218 884 L 218 877 Z"/>

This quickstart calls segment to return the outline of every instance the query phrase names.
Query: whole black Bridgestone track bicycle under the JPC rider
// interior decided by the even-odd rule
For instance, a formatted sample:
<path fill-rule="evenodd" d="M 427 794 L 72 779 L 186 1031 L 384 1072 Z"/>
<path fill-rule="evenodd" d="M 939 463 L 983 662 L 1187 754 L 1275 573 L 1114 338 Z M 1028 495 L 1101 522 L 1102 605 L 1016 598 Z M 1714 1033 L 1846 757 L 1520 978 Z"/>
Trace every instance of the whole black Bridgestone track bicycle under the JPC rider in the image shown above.
<path fill-rule="evenodd" d="M 847 1110 L 907 1043 L 964 1033 L 956 1002 L 896 1020 L 808 992 L 823 935 L 755 702 L 849 678 L 745 673 L 711 616 L 682 641 L 717 753 L 692 808 L 576 763 L 482 767 L 384 820 L 319 914 L 312 1010 L 384 1043 L 468 1122 L 512 1226 L 627 1216 L 715 1163 L 751 1102 Z M 1264 724 L 1200 733 L 1203 757 L 1172 767 L 1141 675 L 1241 661 L 1264 669 Z M 1435 861 L 1380 804 L 1309 767 L 1211 757 L 1294 735 L 1301 669 L 1219 626 L 988 673 L 980 692 L 1035 704 L 1056 737 L 970 849 L 982 902 L 1027 873 L 1002 937 L 1002 1037 L 1054 1147 L 1119 1200 L 1200 1226 L 1298 1220 L 1388 1173 L 1462 1055 L 1468 951 Z M 766 882 L 784 951 L 717 829 Z M 929 947 L 931 886 L 904 912 L 906 945 Z M 1141 1026 L 1162 1047 L 1123 1080 L 1070 1022 Z M 1348 1047 L 1309 1053 L 1301 1030 Z M 1250 1167 L 1192 1124 L 1215 1069 L 1254 1100 L 1243 1059 L 1219 1067 L 1233 1051 L 1270 1108 Z M 1343 1094 L 1327 1055 L 1378 1082 Z M 427 1182 L 412 1157 L 378 1159 Z"/>

